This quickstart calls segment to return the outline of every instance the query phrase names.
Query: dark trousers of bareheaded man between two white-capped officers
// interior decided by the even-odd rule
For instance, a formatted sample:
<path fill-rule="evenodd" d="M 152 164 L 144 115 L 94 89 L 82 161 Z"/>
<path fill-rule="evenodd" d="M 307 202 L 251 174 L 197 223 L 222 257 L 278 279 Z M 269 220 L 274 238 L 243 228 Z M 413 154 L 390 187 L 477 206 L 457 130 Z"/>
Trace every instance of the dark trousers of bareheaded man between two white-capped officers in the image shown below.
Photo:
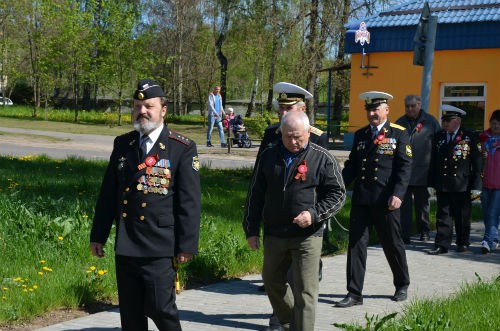
<path fill-rule="evenodd" d="M 427 186 L 408 186 L 406 195 L 401 204 L 401 230 L 404 240 L 410 240 L 413 223 L 413 207 L 415 207 L 415 223 L 418 233 L 428 233 L 430 193 Z"/>

